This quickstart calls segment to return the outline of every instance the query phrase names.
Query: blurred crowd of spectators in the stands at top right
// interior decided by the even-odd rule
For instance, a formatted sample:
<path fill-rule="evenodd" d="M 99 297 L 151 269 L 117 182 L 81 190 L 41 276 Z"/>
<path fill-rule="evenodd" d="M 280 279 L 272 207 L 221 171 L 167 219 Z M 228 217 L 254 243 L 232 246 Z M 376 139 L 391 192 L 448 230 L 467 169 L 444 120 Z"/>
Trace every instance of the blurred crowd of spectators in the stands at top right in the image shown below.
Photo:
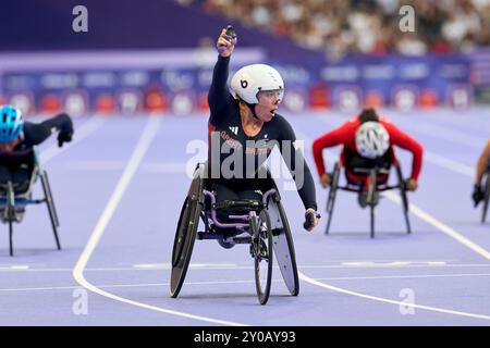
<path fill-rule="evenodd" d="M 176 0 L 241 21 L 330 57 L 421 55 L 490 46 L 490 0 Z M 415 13 L 402 33 L 403 5 Z M 405 20 L 406 21 L 406 20 Z M 406 22 L 405 22 L 406 23 Z"/>

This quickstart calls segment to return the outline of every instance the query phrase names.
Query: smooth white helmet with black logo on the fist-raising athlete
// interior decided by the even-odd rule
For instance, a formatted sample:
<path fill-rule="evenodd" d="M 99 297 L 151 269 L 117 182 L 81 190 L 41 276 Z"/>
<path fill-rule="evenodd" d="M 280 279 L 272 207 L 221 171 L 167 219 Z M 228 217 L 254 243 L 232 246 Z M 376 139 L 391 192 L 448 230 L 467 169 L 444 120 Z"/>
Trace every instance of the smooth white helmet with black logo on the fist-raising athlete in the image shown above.
<path fill-rule="evenodd" d="M 284 94 L 284 82 L 281 74 L 266 64 L 246 65 L 233 75 L 231 89 L 240 99 L 249 104 L 258 102 L 257 94 L 261 90 L 280 90 L 280 98 Z"/>

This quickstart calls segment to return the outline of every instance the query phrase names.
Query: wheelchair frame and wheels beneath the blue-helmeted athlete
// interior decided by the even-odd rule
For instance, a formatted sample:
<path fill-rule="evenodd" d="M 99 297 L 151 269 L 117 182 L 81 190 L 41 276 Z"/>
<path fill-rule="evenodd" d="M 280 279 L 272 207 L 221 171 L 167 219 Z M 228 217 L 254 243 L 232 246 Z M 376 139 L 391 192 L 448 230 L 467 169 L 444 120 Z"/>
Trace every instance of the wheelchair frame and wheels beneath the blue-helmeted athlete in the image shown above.
<path fill-rule="evenodd" d="M 16 194 L 13 184 L 9 182 L 5 187 L 4 196 L 2 195 L 3 192 L 0 194 L 0 219 L 3 223 L 9 224 L 9 249 L 11 257 L 13 257 L 13 224 L 22 221 L 25 207 L 28 204 L 47 204 L 57 248 L 58 250 L 61 250 L 60 238 L 58 236 L 58 227 L 60 226 L 60 222 L 51 192 L 51 186 L 49 184 L 48 173 L 39 163 L 37 148 L 33 147 L 32 151 L 34 167 L 30 173 L 29 184 L 26 190 L 24 192 Z M 40 178 L 45 197 L 34 199 L 32 190 L 38 177 Z"/>

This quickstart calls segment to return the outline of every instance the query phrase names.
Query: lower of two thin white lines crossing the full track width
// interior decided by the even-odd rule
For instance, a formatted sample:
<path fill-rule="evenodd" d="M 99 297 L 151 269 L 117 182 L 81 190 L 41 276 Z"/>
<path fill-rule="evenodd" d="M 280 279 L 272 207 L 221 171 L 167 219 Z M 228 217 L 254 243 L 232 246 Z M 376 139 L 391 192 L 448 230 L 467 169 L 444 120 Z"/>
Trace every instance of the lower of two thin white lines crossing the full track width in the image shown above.
<path fill-rule="evenodd" d="M 341 276 L 315 278 L 315 281 L 359 281 L 359 279 L 404 279 L 404 278 L 450 278 L 450 277 L 480 277 L 490 276 L 490 273 L 462 273 L 462 274 L 414 274 L 414 275 L 379 275 L 379 276 Z M 272 279 L 273 283 L 282 283 L 282 278 Z M 188 282 L 187 285 L 223 285 L 223 284 L 255 284 L 255 281 L 208 281 Z M 98 288 L 131 288 L 131 287 L 160 287 L 169 286 L 170 283 L 148 283 L 148 284 L 109 284 L 95 285 Z M 0 288 L 0 291 L 49 291 L 49 290 L 74 290 L 78 286 L 53 286 L 53 287 L 24 287 L 24 288 Z"/>

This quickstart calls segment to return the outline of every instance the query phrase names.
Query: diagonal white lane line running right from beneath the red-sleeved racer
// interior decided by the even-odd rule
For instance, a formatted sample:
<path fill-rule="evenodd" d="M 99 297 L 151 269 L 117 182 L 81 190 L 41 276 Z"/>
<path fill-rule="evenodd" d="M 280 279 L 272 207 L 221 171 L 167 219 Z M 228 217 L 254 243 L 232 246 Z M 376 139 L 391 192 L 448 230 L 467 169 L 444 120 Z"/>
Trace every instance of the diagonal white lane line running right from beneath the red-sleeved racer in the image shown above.
<path fill-rule="evenodd" d="M 402 203 L 401 202 L 401 198 L 397 195 L 395 195 L 394 192 L 385 191 L 384 196 L 388 199 L 394 201 L 397 204 Z M 457 240 L 458 243 L 461 243 L 465 247 L 471 249 L 473 251 L 475 251 L 476 253 L 478 253 L 481 257 L 486 258 L 487 260 L 490 260 L 490 252 L 488 252 L 485 248 L 480 247 L 476 243 L 471 241 L 469 238 L 463 236 L 461 233 L 458 233 L 454 228 L 451 228 L 446 224 L 440 222 L 439 220 L 437 220 L 436 217 L 433 217 L 429 213 L 425 212 L 424 210 L 421 210 L 420 208 L 418 208 L 414 203 L 409 203 L 409 210 L 411 210 L 411 213 L 413 213 L 414 215 L 416 215 L 420 220 L 424 220 L 429 225 L 432 225 L 433 227 L 436 227 L 440 232 L 444 233 L 445 235 L 450 236 L 451 238 Z"/>

